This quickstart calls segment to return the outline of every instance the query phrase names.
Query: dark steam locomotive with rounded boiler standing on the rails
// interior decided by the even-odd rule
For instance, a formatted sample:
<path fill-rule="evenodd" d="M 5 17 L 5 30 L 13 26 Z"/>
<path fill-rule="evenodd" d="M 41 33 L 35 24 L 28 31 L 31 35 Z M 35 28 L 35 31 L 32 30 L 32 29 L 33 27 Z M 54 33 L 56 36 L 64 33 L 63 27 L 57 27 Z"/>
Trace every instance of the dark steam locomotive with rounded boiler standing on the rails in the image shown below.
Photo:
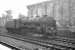
<path fill-rule="evenodd" d="M 44 36 L 52 35 L 54 36 L 57 32 L 56 21 L 53 17 L 43 16 L 38 18 L 38 20 L 13 20 L 9 21 L 5 25 L 8 32 L 17 34 L 42 34 Z"/>

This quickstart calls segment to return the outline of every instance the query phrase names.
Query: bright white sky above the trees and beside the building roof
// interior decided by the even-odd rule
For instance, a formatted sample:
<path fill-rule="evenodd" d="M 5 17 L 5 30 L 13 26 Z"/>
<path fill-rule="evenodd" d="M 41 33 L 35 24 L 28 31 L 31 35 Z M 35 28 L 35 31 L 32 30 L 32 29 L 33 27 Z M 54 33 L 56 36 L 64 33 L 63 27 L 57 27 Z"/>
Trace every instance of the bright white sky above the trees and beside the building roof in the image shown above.
<path fill-rule="evenodd" d="M 21 13 L 27 16 L 27 5 L 36 4 L 47 0 L 0 0 L 0 17 L 6 10 L 12 10 L 12 15 L 17 18 Z"/>

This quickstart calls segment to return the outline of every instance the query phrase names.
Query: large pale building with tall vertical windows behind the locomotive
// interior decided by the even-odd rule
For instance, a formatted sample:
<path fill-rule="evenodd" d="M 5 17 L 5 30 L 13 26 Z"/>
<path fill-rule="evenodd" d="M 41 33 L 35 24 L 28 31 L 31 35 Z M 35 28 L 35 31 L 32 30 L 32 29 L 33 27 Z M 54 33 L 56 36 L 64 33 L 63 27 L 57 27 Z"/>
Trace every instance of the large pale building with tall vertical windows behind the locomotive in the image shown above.
<path fill-rule="evenodd" d="M 74 3 L 74 0 L 50 0 L 28 5 L 28 16 L 36 18 L 37 16 L 43 17 L 43 15 L 47 15 L 54 17 L 59 26 L 74 25 Z"/>

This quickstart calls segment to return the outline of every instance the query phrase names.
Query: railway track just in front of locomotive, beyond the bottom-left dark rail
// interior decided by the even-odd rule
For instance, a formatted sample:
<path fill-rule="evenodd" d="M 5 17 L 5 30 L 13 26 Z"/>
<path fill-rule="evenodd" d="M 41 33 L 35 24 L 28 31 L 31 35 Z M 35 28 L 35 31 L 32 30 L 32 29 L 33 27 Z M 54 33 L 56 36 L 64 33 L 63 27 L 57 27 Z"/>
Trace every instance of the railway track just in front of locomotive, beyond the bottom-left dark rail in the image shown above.
<path fill-rule="evenodd" d="M 47 47 L 47 48 L 49 47 L 57 48 L 57 49 L 62 49 L 62 48 L 74 49 L 75 48 L 75 44 L 68 43 L 69 41 L 66 42 L 67 39 L 60 38 L 60 37 L 49 37 L 46 39 L 42 37 L 33 37 L 33 36 L 25 36 L 25 35 L 23 36 L 23 35 L 10 34 L 10 33 L 7 33 L 7 34 L 8 35 L 1 35 L 1 36 L 18 39 L 21 41 L 40 45 L 40 46 Z M 69 40 L 73 40 L 73 39 L 69 39 Z"/>

